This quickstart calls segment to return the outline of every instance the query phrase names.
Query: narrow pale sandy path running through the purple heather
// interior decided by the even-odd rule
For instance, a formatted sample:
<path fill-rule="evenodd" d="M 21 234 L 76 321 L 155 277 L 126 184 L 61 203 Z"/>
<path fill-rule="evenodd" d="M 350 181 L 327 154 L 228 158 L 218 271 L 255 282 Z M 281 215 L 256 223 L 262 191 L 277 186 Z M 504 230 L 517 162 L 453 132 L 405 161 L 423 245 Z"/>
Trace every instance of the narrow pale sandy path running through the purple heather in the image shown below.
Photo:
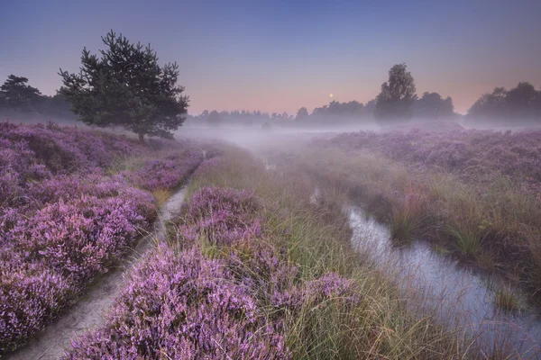
<path fill-rule="evenodd" d="M 133 268 L 142 255 L 153 247 L 155 238 L 165 236 L 165 222 L 171 214 L 179 210 L 184 201 L 185 188 L 174 193 L 161 207 L 159 220 L 154 224 L 154 232 L 139 242 L 125 259 L 124 264 L 112 268 L 107 274 L 92 284 L 84 297 L 78 303 L 67 309 L 58 320 L 41 331 L 31 343 L 6 359 L 17 360 L 49 360 L 58 359 L 64 355 L 64 349 L 70 346 L 72 338 L 82 334 L 86 329 L 100 326 L 104 323 L 104 314 L 111 307 L 115 298 L 120 294 L 124 282 L 123 275 Z"/>

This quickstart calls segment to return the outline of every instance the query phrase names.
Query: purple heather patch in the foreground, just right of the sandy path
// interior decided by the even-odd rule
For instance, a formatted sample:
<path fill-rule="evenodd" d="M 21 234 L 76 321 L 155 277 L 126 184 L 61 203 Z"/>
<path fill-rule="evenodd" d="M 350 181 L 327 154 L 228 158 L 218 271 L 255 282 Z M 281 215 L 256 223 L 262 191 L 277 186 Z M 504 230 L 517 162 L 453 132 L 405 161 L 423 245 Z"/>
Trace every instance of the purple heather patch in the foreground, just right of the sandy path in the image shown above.
<path fill-rule="evenodd" d="M 69 359 L 290 358 L 286 322 L 294 311 L 361 302 L 355 284 L 334 273 L 303 283 L 285 248 L 264 240 L 270 234 L 261 228 L 244 237 L 263 222 L 253 193 L 202 188 L 185 212 L 174 227 L 183 250 L 162 244 L 142 262 L 106 326 L 75 340 Z M 187 241 L 186 232 L 212 233 L 228 254 L 206 257 L 205 245 Z"/>

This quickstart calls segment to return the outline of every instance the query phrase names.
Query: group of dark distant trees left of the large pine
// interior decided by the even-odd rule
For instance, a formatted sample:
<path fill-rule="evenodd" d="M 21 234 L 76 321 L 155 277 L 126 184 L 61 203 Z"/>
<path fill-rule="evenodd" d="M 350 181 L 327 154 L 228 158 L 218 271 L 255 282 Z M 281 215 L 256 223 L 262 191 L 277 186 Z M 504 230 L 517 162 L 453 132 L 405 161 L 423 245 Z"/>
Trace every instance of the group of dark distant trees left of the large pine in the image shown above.
<path fill-rule="evenodd" d="M 0 117 L 75 119 L 66 96 L 57 92 L 53 96 L 41 94 L 28 84 L 24 76 L 7 76 L 0 86 Z"/>

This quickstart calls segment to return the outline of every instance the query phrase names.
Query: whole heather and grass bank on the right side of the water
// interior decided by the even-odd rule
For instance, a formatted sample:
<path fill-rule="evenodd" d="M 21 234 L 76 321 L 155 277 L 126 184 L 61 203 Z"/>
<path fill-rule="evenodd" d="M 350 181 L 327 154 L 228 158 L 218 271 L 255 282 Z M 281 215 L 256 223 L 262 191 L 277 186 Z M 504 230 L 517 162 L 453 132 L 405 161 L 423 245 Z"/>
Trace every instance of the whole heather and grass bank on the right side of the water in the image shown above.
<path fill-rule="evenodd" d="M 271 153 L 347 189 L 397 242 L 427 239 L 538 302 L 539 144 L 541 132 L 360 131 Z"/>

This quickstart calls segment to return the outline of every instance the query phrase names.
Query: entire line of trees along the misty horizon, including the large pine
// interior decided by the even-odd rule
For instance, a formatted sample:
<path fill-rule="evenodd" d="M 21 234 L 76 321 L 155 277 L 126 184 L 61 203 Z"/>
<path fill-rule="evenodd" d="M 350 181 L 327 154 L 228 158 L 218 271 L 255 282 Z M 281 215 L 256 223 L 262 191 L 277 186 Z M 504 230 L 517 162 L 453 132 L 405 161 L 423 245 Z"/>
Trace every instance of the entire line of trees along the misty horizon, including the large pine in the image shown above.
<path fill-rule="evenodd" d="M 368 103 L 332 101 L 311 113 L 301 107 L 295 115 L 214 110 L 189 116 L 188 96 L 177 85 L 177 64 L 160 67 L 150 45 L 131 43 L 114 31 L 102 41 L 105 49 L 100 50 L 99 58 L 83 49 L 78 74 L 60 69 L 63 86 L 53 96 L 41 94 L 26 77 L 8 76 L 0 86 L 0 116 L 74 119 L 78 115 L 78 120 L 90 125 L 122 126 L 140 139 L 145 135 L 170 137 L 186 119 L 210 126 L 335 126 L 369 121 L 392 125 L 409 119 L 448 121 L 459 116 L 449 96 L 426 92 L 419 97 L 406 64 L 390 68 L 380 94 Z M 466 118 L 502 125 L 541 123 L 541 89 L 527 82 L 509 90 L 496 87 L 473 103 Z"/>

